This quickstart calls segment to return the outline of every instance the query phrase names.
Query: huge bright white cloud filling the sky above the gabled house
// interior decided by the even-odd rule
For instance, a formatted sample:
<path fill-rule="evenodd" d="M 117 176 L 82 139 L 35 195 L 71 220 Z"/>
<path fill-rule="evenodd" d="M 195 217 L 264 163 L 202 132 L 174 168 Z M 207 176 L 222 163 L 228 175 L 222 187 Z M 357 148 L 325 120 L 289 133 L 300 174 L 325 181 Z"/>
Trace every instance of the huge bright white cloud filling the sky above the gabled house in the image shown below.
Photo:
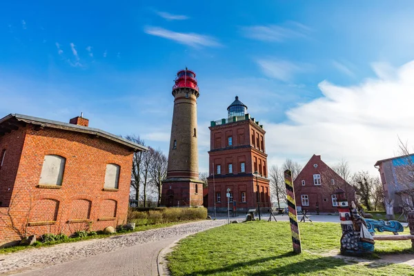
<path fill-rule="evenodd" d="M 319 83 L 323 97 L 291 108 L 282 124 L 264 122 L 269 157 L 344 157 L 353 170 L 377 174 L 375 161 L 396 154 L 397 136 L 414 144 L 414 61 L 391 73 L 357 86 Z"/>

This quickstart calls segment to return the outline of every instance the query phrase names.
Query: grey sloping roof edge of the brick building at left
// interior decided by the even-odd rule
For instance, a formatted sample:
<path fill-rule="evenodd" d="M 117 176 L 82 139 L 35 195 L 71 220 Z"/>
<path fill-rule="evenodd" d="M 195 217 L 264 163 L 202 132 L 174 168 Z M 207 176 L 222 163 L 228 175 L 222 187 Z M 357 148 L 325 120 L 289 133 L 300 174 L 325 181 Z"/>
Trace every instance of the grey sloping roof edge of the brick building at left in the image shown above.
<path fill-rule="evenodd" d="M 12 128 L 12 121 L 17 121 L 17 122 L 22 122 L 22 123 L 26 123 L 26 124 L 33 124 L 35 126 L 40 126 L 40 127 L 47 127 L 47 128 L 58 128 L 61 130 L 68 130 L 68 131 L 75 131 L 75 132 L 81 132 L 81 133 L 87 133 L 87 134 L 91 134 L 91 135 L 97 135 L 99 137 L 103 137 L 106 139 L 109 139 L 111 141 L 115 141 L 118 144 L 122 144 L 124 146 L 127 146 L 128 148 L 132 148 L 133 150 L 137 151 L 137 150 L 148 150 L 148 148 L 146 148 L 145 146 L 141 146 L 139 144 L 135 144 L 132 141 L 129 141 L 127 139 L 124 139 L 122 137 L 119 137 L 117 135 L 113 135 L 109 132 L 100 130 L 98 128 L 89 128 L 87 126 L 78 126 L 75 124 L 68 124 L 68 123 L 63 123 L 61 121 L 52 121 L 52 120 L 48 120 L 48 119 L 42 119 L 42 118 L 37 118 L 37 117 L 31 117 L 31 116 L 27 116 L 27 115 L 21 115 L 21 114 L 9 114 L 6 117 L 3 117 L 2 119 L 0 119 L 0 132 L 2 130 L 2 126 L 3 128 Z M 6 126 L 7 125 L 7 126 Z M 16 126 L 14 126 L 16 127 Z"/>

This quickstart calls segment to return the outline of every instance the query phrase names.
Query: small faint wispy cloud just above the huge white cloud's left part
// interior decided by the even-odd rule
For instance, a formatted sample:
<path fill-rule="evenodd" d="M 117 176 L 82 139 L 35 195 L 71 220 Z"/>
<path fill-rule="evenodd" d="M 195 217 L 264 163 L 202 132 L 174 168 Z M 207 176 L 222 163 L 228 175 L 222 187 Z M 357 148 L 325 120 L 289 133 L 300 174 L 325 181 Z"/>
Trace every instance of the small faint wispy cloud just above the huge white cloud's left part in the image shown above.
<path fill-rule="evenodd" d="M 267 77 L 280 81 L 292 81 L 299 72 L 308 72 L 312 66 L 308 63 L 293 63 L 282 59 L 257 59 L 257 65 Z"/>

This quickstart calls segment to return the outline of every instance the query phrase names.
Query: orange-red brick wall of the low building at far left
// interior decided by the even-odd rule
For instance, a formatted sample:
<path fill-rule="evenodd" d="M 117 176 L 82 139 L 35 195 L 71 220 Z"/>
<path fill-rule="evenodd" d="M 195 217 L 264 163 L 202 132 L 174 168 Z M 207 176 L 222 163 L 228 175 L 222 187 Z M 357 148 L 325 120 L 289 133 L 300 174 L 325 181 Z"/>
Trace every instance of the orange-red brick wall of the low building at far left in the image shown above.
<path fill-rule="evenodd" d="M 132 166 L 132 152 L 128 148 L 107 139 L 90 137 L 79 132 L 52 128 L 36 131 L 28 125 L 23 130 L 12 131 L 0 138 L 0 148 L 3 148 L 6 142 L 9 148 L 17 148 L 14 155 L 9 155 L 9 159 L 5 160 L 5 168 L 12 171 L 16 170 L 15 160 L 18 160 L 20 155 L 16 143 L 10 141 L 15 141 L 15 137 L 22 135 L 25 130 L 26 140 L 12 193 L 12 198 L 18 204 L 11 208 L 11 215 L 20 230 L 27 220 L 35 222 L 55 218 L 55 225 L 29 226 L 28 233 L 41 235 L 62 232 L 70 235 L 75 230 L 85 229 L 87 224 L 70 224 L 68 220 L 83 218 L 88 212 L 94 230 L 126 222 Z M 17 141 L 19 144 L 20 140 Z M 37 187 L 45 155 L 60 155 L 66 158 L 60 189 Z M 12 163 L 8 163 L 10 158 Z M 117 191 L 103 191 L 106 164 L 109 163 L 121 166 Z M 0 172 L 0 177 L 3 173 Z M 88 201 L 91 203 L 90 210 L 87 207 Z M 53 202 L 55 204 L 52 204 Z M 30 209 L 30 219 L 27 219 Z M 4 213 L 7 210 L 2 208 L 1 211 Z M 115 213 L 115 220 L 98 221 L 100 215 L 114 217 Z M 0 222 L 0 244 L 17 238 L 16 233 Z"/>

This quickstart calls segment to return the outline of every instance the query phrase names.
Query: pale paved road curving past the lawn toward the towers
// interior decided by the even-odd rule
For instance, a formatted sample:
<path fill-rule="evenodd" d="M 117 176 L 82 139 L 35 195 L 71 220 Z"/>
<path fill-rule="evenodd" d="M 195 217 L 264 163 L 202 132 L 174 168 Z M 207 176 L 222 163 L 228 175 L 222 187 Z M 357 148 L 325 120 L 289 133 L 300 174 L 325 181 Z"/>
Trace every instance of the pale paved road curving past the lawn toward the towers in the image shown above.
<path fill-rule="evenodd" d="M 331 222 L 339 222 L 339 218 L 335 215 L 309 215 L 313 221 L 331 221 Z M 287 215 L 277 215 L 277 221 L 287 221 Z M 302 216 L 299 216 L 301 219 Z M 244 215 L 239 215 L 239 217 L 230 217 L 230 220 L 233 221 L 237 219 L 238 221 L 242 221 L 244 219 Z M 268 219 L 268 215 L 263 215 L 262 219 Z M 103 248 L 101 253 L 94 253 L 93 255 L 81 255 L 81 256 L 74 256 L 72 258 L 68 258 L 67 254 L 61 257 L 56 257 L 56 259 L 52 259 L 50 262 L 46 262 L 43 264 L 32 264 L 37 270 L 30 270 L 25 273 L 20 273 L 17 275 L 25 275 L 25 276 L 49 276 L 49 275 L 59 275 L 59 276 L 75 276 L 75 275 L 158 275 L 157 270 L 157 256 L 159 251 L 165 248 L 166 246 L 172 244 L 180 237 L 184 237 L 189 233 L 197 233 L 202 230 L 206 230 L 208 228 L 212 228 L 215 226 L 220 226 L 226 224 L 227 217 L 217 217 L 216 221 L 200 221 L 191 224 L 183 224 L 173 226 L 171 228 L 160 228 L 156 230 L 148 230 L 141 233 L 133 233 L 124 236 L 117 236 L 118 244 L 123 244 L 123 240 L 132 240 L 132 243 L 126 243 L 126 246 L 119 247 L 116 250 L 111 250 L 115 244 L 111 244 L 111 246 L 101 246 L 99 244 L 104 244 L 105 239 L 99 241 L 86 241 L 85 245 L 82 246 L 81 243 L 76 243 L 76 248 L 70 248 L 70 246 L 75 246 L 75 244 L 61 244 L 52 248 L 40 248 L 39 255 L 37 255 L 37 251 L 34 250 L 26 250 L 21 253 L 14 253 L 14 260 L 20 262 L 20 264 L 25 264 L 28 262 L 28 266 L 26 269 L 33 269 L 30 267 L 30 263 L 34 262 L 34 259 L 39 259 L 42 257 L 50 257 L 50 255 L 59 256 L 58 253 L 64 253 L 64 250 L 72 250 L 73 255 L 81 255 L 81 251 L 96 251 L 99 248 Z M 172 234 L 171 234 L 172 233 Z M 135 236 L 154 236 L 151 239 L 145 240 L 142 238 L 138 238 Z M 106 243 L 111 241 L 106 241 Z M 115 242 L 115 241 L 112 241 Z M 92 245 L 90 243 L 93 243 Z M 93 250 L 90 248 L 93 247 Z M 106 248 L 106 249 L 105 249 Z M 105 250 L 106 251 L 105 251 Z M 40 251 L 46 251 L 40 253 Z M 17 256 L 17 255 L 21 256 Z M 41 255 L 43 254 L 43 255 Z M 10 255 L 10 257 L 13 255 Z M 10 263 L 10 262 L 9 262 Z M 1 263 L 0 263 L 1 264 Z M 21 269 L 21 268 L 19 268 Z M 20 270 L 21 271 L 21 270 Z M 1 268 L 0 268 L 1 273 Z M 13 270 L 9 270 L 6 272 L 8 275 L 12 275 Z M 17 273 L 17 270 L 14 270 L 14 273 Z"/>

